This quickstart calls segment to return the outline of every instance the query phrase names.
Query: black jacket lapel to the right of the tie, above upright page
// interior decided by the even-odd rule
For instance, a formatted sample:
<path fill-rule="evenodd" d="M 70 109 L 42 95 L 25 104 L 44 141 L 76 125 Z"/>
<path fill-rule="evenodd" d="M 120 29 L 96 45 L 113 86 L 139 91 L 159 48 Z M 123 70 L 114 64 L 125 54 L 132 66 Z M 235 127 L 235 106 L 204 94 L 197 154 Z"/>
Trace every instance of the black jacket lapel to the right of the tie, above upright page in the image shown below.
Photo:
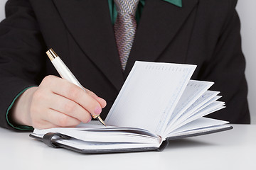
<path fill-rule="evenodd" d="M 136 60 L 155 61 L 171 42 L 198 0 L 183 0 L 179 8 L 160 0 L 146 0 L 124 75 Z"/>

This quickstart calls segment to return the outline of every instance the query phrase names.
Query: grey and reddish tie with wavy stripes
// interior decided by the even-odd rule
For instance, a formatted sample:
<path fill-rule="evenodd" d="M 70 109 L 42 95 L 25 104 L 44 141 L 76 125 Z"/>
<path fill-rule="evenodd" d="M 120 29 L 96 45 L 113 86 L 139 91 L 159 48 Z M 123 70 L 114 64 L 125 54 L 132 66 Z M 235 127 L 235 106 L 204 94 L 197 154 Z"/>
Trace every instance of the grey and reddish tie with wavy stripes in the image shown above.
<path fill-rule="evenodd" d="M 122 69 L 124 70 L 136 32 L 137 23 L 134 16 L 139 0 L 114 0 L 114 2 L 117 7 L 117 20 L 114 23 L 114 35 L 117 41 L 117 50 L 119 52 Z"/>

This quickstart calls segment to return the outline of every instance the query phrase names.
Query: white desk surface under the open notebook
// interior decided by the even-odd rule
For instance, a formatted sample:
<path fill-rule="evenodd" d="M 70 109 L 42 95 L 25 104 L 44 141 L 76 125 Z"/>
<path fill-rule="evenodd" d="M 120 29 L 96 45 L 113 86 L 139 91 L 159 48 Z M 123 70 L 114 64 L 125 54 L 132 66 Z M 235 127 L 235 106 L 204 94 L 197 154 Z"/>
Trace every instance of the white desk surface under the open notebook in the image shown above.
<path fill-rule="evenodd" d="M 163 152 L 79 154 L 0 128 L 0 169 L 256 169 L 256 125 L 174 140 Z"/>

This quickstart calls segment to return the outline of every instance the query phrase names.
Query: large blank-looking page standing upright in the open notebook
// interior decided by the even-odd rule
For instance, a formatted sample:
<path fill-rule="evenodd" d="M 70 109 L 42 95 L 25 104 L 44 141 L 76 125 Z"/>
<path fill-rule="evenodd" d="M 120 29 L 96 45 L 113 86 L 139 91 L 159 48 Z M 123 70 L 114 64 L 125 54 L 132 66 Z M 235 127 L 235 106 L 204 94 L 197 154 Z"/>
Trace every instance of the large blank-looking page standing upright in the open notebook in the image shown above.
<path fill-rule="evenodd" d="M 135 62 L 105 123 L 161 135 L 196 65 Z"/>

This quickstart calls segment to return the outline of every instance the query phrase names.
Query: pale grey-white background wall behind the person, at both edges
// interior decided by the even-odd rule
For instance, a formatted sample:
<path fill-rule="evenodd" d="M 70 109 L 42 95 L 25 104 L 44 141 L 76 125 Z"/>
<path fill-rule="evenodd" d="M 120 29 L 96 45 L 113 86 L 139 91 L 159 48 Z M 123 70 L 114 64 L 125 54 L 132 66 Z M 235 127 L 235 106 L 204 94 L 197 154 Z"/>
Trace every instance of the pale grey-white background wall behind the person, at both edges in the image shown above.
<path fill-rule="evenodd" d="M 4 19 L 4 4 L 6 0 L 0 0 L 0 20 Z M 238 14 L 241 19 L 242 50 L 245 54 L 247 67 L 245 74 L 249 86 L 249 107 L 252 123 L 256 124 L 256 1 L 239 0 Z"/>

